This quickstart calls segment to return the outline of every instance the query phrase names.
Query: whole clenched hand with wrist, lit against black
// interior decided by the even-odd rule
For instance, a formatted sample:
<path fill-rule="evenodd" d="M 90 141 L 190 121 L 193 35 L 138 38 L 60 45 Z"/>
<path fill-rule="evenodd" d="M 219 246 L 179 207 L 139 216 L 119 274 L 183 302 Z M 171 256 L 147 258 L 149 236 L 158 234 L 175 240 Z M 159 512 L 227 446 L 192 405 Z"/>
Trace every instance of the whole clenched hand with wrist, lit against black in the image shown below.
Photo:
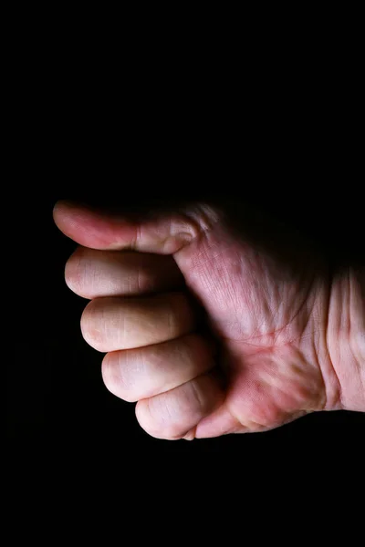
<path fill-rule="evenodd" d="M 151 436 L 365 411 L 363 268 L 332 271 L 297 235 L 232 204 L 137 217 L 60 201 L 54 218 L 79 244 L 66 282 L 90 300 L 82 335 Z"/>

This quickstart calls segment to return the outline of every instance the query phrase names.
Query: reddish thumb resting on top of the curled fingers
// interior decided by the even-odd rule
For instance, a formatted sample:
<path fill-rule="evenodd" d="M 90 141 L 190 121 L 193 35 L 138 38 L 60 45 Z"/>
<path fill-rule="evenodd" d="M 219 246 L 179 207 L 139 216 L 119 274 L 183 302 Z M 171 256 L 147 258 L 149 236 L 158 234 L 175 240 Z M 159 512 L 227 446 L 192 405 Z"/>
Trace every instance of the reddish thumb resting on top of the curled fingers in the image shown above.
<path fill-rule="evenodd" d="M 58 201 L 53 216 L 61 232 L 85 247 L 159 254 L 176 253 L 215 218 L 213 210 L 203 205 L 138 215 L 102 212 L 71 201 Z"/>

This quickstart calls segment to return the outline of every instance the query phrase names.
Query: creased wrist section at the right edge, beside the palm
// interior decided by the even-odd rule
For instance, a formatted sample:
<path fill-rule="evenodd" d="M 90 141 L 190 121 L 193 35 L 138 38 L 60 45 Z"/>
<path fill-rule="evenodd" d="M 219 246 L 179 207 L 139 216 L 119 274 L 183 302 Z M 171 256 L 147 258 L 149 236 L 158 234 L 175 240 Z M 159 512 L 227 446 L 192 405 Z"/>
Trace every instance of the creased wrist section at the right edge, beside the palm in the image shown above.
<path fill-rule="evenodd" d="M 328 358 L 339 383 L 338 408 L 365 412 L 365 268 L 334 275 L 328 298 Z"/>

